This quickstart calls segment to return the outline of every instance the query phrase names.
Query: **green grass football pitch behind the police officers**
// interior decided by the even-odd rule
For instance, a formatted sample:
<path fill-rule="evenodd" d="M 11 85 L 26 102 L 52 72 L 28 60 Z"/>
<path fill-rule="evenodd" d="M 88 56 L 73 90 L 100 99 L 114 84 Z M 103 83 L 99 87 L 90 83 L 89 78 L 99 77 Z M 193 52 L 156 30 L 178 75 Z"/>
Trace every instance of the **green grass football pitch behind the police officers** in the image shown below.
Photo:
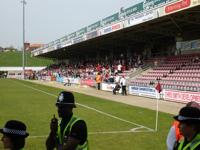
<path fill-rule="evenodd" d="M 52 95 L 34 90 L 39 89 Z M 0 127 L 9 119 L 27 124 L 30 137 L 27 150 L 44 150 L 49 122 L 57 115 L 55 100 L 60 89 L 13 79 L 0 79 Z M 97 97 L 74 93 L 76 102 L 149 128 L 155 127 L 155 111 L 133 107 Z M 133 99 L 134 100 L 134 99 Z M 87 122 L 91 150 L 163 150 L 171 124 L 171 116 L 159 113 L 158 132 L 91 134 L 94 132 L 129 131 L 138 126 L 103 115 L 82 106 L 75 115 Z M 142 129 L 143 131 L 147 131 Z M 35 137 L 39 136 L 39 137 Z M 0 149 L 2 149 L 2 143 Z"/>

